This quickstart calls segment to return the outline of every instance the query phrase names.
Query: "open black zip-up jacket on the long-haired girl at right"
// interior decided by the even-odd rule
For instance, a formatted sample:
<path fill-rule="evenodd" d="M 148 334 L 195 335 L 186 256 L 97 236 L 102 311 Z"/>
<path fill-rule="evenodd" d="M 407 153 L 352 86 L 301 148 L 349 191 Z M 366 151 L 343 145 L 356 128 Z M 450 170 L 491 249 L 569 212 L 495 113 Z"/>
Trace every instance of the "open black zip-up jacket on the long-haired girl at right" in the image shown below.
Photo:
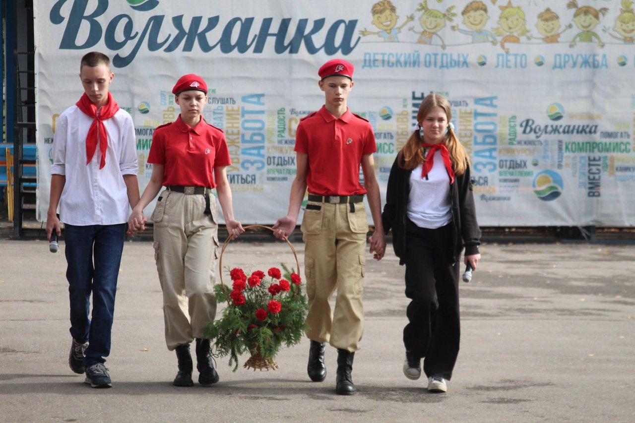
<path fill-rule="evenodd" d="M 392 228 L 392 246 L 399 257 L 399 264 L 403 265 L 406 258 L 406 206 L 410 194 L 411 170 L 399 167 L 399 156 L 392 163 L 391 174 L 386 189 L 386 204 L 382 213 L 384 231 Z M 450 185 L 452 199 L 452 222 L 454 236 L 454 262 L 460 258 L 465 248 L 465 255 L 478 254 L 481 245 L 481 229 L 476 221 L 476 208 L 472 196 L 470 168 L 467 166 L 463 175 L 455 176 L 454 184 Z M 459 236 L 460 234 L 460 236 Z"/>

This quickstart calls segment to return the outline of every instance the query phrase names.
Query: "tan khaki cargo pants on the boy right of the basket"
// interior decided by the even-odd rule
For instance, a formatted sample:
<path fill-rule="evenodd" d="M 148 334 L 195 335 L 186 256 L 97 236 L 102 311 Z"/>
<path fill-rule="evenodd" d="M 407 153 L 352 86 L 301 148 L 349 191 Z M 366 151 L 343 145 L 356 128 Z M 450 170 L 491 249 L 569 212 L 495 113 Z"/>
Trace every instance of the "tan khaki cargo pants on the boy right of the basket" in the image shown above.
<path fill-rule="evenodd" d="M 362 293 L 368 233 L 364 203 L 309 201 L 300 228 L 311 307 L 307 337 L 357 351 L 364 332 Z M 335 290 L 335 310 L 331 314 L 329 300 Z"/>

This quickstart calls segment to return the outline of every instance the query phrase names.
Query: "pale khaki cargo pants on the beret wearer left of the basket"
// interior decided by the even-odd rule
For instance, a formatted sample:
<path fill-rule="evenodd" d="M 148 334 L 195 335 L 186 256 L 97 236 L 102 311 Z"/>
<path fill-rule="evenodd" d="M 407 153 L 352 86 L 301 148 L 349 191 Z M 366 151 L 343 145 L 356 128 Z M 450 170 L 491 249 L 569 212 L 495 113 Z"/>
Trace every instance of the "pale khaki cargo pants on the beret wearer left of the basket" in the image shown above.
<path fill-rule="evenodd" d="M 218 209 L 210 194 L 211 215 L 202 194 L 163 191 L 150 216 L 154 259 L 163 290 L 165 340 L 172 351 L 203 338 L 216 316 L 215 266 L 218 259 Z"/>

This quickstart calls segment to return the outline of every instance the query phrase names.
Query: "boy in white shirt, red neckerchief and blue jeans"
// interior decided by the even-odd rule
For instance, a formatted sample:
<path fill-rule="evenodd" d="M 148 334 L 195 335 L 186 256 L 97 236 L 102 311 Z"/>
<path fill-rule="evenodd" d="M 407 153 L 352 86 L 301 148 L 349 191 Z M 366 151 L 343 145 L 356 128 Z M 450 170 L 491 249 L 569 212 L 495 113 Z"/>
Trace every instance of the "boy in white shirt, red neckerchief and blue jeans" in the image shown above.
<path fill-rule="evenodd" d="M 132 118 L 108 91 L 114 77 L 109 58 L 87 53 L 79 77 L 83 96 L 57 118 L 46 235 L 49 241 L 53 231 L 60 235 L 64 222 L 70 368 L 86 373 L 84 383 L 105 388 L 112 386 L 104 363 L 110 354 L 128 206 L 139 201 L 137 149 Z"/>

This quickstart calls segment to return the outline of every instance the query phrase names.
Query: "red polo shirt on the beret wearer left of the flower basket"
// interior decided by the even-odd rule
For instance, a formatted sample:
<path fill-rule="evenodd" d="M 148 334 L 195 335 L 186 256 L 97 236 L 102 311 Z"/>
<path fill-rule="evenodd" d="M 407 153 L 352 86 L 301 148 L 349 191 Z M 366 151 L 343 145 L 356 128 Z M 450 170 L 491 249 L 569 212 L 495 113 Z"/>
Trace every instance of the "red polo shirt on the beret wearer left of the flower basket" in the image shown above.
<path fill-rule="evenodd" d="M 181 120 L 154 130 L 147 163 L 164 164 L 163 185 L 216 187 L 214 168 L 229 166 L 225 134 L 203 116 L 194 128 Z"/>

